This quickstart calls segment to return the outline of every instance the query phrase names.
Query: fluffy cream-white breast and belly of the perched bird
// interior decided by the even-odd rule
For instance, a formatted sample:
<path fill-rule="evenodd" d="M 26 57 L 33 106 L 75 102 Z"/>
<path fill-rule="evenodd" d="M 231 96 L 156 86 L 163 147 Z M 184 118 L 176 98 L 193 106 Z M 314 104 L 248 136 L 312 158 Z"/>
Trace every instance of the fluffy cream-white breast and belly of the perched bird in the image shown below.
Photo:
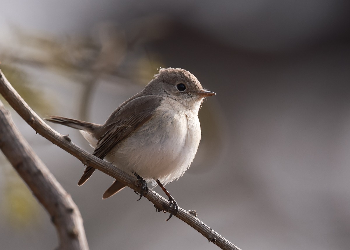
<path fill-rule="evenodd" d="M 136 172 L 146 181 L 159 179 L 166 185 L 182 176 L 195 157 L 201 130 L 198 117 L 194 118 L 184 113 L 161 119 L 155 116 L 113 148 L 106 159 L 125 172 Z"/>

